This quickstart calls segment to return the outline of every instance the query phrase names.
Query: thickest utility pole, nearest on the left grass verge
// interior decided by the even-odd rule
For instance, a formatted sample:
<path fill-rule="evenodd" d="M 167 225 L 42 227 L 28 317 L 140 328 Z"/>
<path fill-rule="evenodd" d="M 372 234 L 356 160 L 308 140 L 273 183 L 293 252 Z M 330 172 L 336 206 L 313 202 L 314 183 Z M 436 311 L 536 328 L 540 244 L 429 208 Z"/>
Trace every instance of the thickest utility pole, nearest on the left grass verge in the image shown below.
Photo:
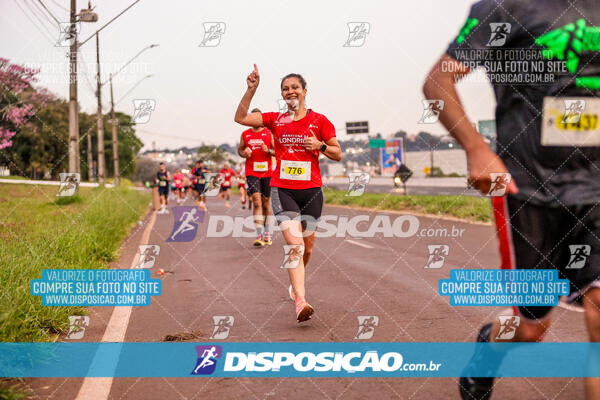
<path fill-rule="evenodd" d="M 80 172 L 79 162 L 79 116 L 77 106 L 77 0 L 71 0 L 72 42 L 69 49 L 69 171 Z"/>

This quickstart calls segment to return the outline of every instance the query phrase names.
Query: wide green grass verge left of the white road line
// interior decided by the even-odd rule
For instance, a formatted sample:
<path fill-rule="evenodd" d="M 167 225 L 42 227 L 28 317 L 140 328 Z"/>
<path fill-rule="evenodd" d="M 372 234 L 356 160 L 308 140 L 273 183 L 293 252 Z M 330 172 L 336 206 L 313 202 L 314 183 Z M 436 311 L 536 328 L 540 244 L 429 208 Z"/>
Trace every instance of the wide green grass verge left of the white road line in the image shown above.
<path fill-rule="evenodd" d="M 56 340 L 83 307 L 45 307 L 29 294 L 42 269 L 105 268 L 118 256 L 150 194 L 81 188 L 57 198 L 57 186 L 0 184 L 0 341 Z"/>

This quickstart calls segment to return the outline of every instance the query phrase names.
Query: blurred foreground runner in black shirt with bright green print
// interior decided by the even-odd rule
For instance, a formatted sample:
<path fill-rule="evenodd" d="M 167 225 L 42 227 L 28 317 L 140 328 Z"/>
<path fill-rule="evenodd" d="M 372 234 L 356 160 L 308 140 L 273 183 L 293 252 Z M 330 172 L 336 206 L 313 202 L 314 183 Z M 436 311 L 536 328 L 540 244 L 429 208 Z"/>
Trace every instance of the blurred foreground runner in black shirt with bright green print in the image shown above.
<path fill-rule="evenodd" d="M 570 282 L 566 301 L 583 305 L 589 339 L 599 342 L 600 128 L 593 121 L 600 113 L 600 7 L 597 0 L 576 7 L 561 0 L 501 3 L 472 6 L 423 91 L 432 104 L 444 102 L 439 121 L 465 149 L 470 184 L 506 194 L 492 197 L 502 268 L 558 270 Z M 471 124 L 455 87 L 480 65 L 488 67 L 496 97 L 498 154 Z M 569 268 L 573 245 L 587 248 L 577 269 Z M 552 308 L 515 305 L 510 326 L 486 323 L 476 340 L 541 341 Z M 504 339 L 508 327 L 513 335 Z M 460 378 L 465 400 L 489 399 L 494 388 L 489 376 L 505 353 L 484 349 L 477 347 Z M 590 357 L 598 363 L 597 353 Z M 477 375 L 482 371 L 488 377 Z M 600 378 L 585 378 L 585 392 L 600 399 Z"/>

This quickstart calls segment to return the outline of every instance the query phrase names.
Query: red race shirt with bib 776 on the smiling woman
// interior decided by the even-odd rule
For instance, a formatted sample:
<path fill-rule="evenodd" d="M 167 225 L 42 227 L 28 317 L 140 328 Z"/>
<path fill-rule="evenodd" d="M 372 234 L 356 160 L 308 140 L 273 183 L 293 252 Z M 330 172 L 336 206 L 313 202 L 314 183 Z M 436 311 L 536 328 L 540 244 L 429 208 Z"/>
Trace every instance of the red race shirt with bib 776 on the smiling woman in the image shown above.
<path fill-rule="evenodd" d="M 323 186 L 319 169 L 319 151 L 308 151 L 304 138 L 311 132 L 326 142 L 335 137 L 335 128 L 323 114 L 308 110 L 298 121 L 287 114 L 264 113 L 263 125 L 273 132 L 277 168 L 271 177 L 271 186 L 285 189 L 308 189 Z"/>

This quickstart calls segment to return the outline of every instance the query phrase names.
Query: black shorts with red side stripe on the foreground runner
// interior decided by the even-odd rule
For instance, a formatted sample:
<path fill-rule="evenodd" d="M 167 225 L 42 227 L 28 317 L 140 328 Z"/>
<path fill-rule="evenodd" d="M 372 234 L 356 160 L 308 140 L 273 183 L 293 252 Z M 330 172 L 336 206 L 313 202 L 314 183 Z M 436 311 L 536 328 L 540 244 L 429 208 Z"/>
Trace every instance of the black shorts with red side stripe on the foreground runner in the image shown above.
<path fill-rule="evenodd" d="M 565 299 L 570 303 L 580 303 L 587 289 L 600 288 L 600 207 L 550 208 L 511 196 L 493 197 L 492 205 L 503 269 L 557 269 L 559 278 L 570 282 Z M 552 307 L 517 309 L 537 320 Z"/>

